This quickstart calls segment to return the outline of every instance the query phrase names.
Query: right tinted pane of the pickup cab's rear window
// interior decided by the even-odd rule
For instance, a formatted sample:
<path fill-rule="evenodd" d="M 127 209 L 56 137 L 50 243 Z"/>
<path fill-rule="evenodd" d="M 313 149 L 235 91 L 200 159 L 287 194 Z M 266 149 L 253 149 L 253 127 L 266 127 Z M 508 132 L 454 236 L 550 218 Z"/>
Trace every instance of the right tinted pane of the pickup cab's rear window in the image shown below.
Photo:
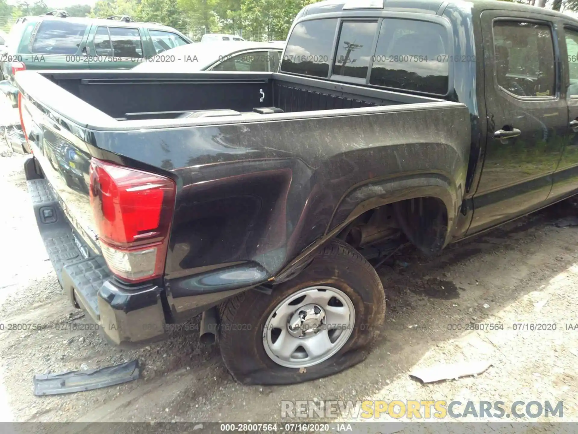
<path fill-rule="evenodd" d="M 445 95 L 451 60 L 447 31 L 427 21 L 384 19 L 369 79 L 375 86 Z"/>

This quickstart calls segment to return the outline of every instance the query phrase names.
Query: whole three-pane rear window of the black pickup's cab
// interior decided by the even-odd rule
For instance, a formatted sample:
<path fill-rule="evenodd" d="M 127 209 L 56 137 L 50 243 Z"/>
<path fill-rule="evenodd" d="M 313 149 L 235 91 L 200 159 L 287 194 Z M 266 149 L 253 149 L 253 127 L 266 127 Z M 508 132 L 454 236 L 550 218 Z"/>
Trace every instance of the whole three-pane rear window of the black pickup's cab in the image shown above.
<path fill-rule="evenodd" d="M 347 76 L 373 86 L 447 93 L 452 59 L 443 25 L 397 18 L 383 19 L 381 25 L 377 20 L 343 19 L 334 47 L 337 25 L 337 19 L 295 25 L 280 71 L 337 80 Z"/>

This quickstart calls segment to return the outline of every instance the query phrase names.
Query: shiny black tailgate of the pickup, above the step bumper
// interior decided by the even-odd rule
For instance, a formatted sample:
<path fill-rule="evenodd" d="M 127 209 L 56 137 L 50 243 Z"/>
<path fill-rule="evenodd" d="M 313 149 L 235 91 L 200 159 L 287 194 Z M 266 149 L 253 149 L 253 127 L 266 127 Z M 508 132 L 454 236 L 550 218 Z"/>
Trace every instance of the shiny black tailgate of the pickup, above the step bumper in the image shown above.
<path fill-rule="evenodd" d="M 88 196 L 91 151 L 86 141 L 87 126 L 71 119 L 112 118 L 36 72 L 18 72 L 17 84 L 31 151 L 89 255 L 97 255 L 100 250 Z"/>

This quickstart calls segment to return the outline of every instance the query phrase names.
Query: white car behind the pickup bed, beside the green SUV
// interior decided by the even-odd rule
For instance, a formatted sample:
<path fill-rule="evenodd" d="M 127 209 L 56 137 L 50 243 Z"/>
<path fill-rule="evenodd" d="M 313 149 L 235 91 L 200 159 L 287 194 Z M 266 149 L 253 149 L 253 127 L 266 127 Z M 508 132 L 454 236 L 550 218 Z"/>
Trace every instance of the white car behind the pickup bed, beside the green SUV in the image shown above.
<path fill-rule="evenodd" d="M 285 41 L 207 42 L 182 45 L 132 68 L 139 72 L 246 71 L 277 72 Z"/>

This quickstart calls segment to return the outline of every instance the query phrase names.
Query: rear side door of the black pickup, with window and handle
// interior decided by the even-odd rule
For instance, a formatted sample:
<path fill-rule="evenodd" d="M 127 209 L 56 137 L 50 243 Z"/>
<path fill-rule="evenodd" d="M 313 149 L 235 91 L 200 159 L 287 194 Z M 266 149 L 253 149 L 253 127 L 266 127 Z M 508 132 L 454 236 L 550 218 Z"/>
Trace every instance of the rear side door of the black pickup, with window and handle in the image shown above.
<path fill-rule="evenodd" d="M 487 144 L 468 234 L 546 201 L 566 134 L 553 22 L 541 14 L 481 14 Z"/>

